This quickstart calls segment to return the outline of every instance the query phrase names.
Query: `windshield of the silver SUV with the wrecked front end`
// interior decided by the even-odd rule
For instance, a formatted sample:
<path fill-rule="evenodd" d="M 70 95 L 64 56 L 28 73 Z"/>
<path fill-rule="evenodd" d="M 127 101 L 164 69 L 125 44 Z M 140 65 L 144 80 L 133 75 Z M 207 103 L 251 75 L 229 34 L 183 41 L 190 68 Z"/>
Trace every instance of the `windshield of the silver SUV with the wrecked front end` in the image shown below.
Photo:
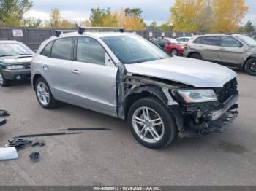
<path fill-rule="evenodd" d="M 102 40 L 121 63 L 142 63 L 169 58 L 157 45 L 140 36 L 108 36 Z"/>

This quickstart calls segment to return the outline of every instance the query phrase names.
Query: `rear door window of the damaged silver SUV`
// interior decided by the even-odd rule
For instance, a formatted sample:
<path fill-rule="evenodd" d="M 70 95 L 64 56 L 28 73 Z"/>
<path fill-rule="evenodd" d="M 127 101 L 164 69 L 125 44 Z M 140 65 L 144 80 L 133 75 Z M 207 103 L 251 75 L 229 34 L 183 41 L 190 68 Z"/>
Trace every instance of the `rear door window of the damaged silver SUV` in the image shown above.
<path fill-rule="evenodd" d="M 72 60 L 73 38 L 57 39 L 52 48 L 51 58 Z"/>

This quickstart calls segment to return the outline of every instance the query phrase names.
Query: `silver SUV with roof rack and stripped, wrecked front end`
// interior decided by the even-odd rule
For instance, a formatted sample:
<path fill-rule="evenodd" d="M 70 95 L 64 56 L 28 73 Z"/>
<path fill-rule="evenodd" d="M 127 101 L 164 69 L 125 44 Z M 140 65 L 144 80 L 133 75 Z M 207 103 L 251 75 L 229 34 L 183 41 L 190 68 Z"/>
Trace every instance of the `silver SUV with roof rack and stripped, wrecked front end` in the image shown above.
<path fill-rule="evenodd" d="M 237 115 L 236 73 L 189 58 L 170 58 L 141 36 L 78 33 L 42 43 L 31 64 L 39 104 L 64 101 L 123 120 L 150 148 L 176 136 L 222 133 Z"/>

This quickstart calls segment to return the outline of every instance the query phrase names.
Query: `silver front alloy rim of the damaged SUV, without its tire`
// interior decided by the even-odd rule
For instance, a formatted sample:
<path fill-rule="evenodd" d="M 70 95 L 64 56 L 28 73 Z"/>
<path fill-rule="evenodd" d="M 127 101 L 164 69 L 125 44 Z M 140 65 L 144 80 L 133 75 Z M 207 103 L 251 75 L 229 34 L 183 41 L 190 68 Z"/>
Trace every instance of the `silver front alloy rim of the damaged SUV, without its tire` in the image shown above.
<path fill-rule="evenodd" d="M 135 133 L 148 143 L 156 143 L 164 135 L 164 123 L 159 114 L 149 107 L 140 107 L 132 115 Z"/>

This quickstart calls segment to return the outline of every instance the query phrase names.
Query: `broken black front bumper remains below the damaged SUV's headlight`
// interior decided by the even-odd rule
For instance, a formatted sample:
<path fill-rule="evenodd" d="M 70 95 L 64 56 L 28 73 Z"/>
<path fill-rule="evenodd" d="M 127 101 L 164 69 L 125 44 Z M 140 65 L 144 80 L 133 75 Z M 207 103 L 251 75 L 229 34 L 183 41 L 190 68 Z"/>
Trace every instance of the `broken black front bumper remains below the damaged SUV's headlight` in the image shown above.
<path fill-rule="evenodd" d="M 203 113 L 200 118 L 190 114 L 191 120 L 189 122 L 188 117 L 184 117 L 185 114 L 181 112 L 179 106 L 170 106 L 170 110 L 176 118 L 179 136 L 184 138 L 200 136 L 200 134 L 222 133 L 227 128 L 227 125 L 238 116 L 238 104 L 236 104 L 238 97 L 238 93 L 230 96 L 220 109 Z"/>

